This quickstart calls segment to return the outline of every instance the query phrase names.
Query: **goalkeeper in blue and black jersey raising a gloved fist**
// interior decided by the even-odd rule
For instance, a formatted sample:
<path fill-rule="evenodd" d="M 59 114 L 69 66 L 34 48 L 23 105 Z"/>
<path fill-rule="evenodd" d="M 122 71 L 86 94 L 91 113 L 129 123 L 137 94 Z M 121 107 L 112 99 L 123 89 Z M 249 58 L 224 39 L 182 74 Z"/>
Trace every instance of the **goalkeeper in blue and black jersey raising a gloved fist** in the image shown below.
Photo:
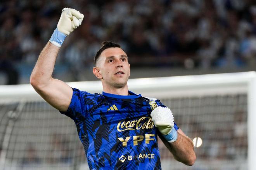
<path fill-rule="evenodd" d="M 102 94 L 80 91 L 51 77 L 59 48 L 82 20 L 80 12 L 62 10 L 30 82 L 50 105 L 74 120 L 89 168 L 159 170 L 157 135 L 176 160 L 193 165 L 193 143 L 173 122 L 170 109 L 128 91 L 130 64 L 118 44 L 102 43 L 94 58 L 93 74 L 102 82 Z"/>

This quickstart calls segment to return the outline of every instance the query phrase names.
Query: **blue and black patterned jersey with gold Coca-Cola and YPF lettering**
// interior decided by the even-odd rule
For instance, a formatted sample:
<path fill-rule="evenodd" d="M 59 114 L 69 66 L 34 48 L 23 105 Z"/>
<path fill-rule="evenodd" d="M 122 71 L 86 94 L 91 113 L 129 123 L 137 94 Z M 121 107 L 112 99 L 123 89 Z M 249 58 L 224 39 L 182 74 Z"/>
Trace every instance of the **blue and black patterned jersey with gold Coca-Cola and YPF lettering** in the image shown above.
<path fill-rule="evenodd" d="M 150 113 L 163 104 L 129 94 L 73 89 L 67 112 L 61 112 L 74 120 L 91 170 L 161 170 L 157 129 Z"/>

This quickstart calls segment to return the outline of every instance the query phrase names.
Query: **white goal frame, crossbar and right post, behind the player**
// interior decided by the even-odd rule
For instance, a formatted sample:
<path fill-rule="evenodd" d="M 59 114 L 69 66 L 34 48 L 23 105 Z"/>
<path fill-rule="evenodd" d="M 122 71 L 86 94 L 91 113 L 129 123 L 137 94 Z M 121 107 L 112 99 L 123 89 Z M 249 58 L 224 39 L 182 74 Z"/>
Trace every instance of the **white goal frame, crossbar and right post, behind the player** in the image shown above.
<path fill-rule="evenodd" d="M 68 82 L 67 84 L 73 88 L 88 91 L 89 93 L 102 93 L 102 85 L 100 81 Z M 247 167 L 248 170 L 255 169 L 256 72 L 130 79 L 128 81 L 128 87 L 129 90 L 134 93 L 140 93 L 142 96 L 160 99 L 246 94 L 248 141 Z M 35 92 L 30 84 L 0 86 L 0 103 L 41 100 L 42 98 Z M 8 136 L 6 138 L 8 138 Z M 2 141 L 4 140 L 7 139 L 2 139 Z M 2 142 L 2 145 L 4 145 L 4 142 Z M 6 155 L 4 155 L 3 151 L 1 153 L 0 163 L 1 161 L 5 161 L 4 157 Z"/>

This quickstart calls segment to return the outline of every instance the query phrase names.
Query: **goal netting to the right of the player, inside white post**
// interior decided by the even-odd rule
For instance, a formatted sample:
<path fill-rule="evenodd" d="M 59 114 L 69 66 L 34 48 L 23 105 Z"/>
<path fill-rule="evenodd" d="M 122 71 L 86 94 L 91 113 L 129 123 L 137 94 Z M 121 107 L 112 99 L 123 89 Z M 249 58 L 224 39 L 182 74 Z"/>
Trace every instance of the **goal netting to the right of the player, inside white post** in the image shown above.
<path fill-rule="evenodd" d="M 163 169 L 247 169 L 247 95 L 203 96 L 161 100 L 171 108 L 175 122 L 191 139 L 200 137 L 192 167 L 174 161 L 160 143 Z M 194 145 L 200 145 L 194 143 Z"/>

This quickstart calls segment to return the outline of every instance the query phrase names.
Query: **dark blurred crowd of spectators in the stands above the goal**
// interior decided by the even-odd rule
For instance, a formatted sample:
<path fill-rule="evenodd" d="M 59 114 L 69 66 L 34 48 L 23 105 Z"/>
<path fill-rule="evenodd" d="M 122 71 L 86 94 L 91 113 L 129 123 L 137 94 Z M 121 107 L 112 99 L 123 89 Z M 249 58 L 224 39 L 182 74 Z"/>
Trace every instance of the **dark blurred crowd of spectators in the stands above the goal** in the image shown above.
<path fill-rule="evenodd" d="M 256 65 L 254 0 L 9 0 L 0 3 L 0 71 L 9 84 L 17 63 L 35 64 L 64 7 L 85 16 L 57 61 L 75 71 L 93 66 L 102 41 L 119 43 L 133 67 Z"/>

